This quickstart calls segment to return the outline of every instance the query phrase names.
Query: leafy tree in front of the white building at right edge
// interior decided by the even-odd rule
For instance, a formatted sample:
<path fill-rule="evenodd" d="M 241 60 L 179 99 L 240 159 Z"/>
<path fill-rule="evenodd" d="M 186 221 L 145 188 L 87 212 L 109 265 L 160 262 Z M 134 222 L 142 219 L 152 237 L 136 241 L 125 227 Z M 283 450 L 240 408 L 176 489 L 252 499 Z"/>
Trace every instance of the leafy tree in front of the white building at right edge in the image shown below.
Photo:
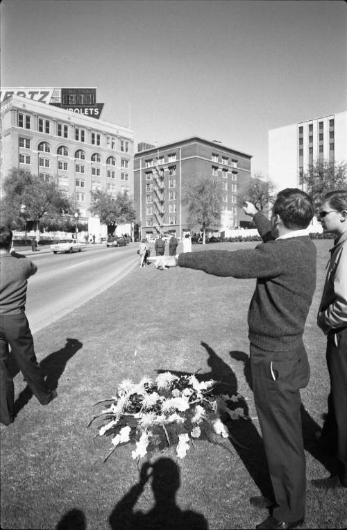
<path fill-rule="evenodd" d="M 335 164 L 317 160 L 301 176 L 301 185 L 314 199 L 318 208 L 325 193 L 347 188 L 347 163 Z"/>

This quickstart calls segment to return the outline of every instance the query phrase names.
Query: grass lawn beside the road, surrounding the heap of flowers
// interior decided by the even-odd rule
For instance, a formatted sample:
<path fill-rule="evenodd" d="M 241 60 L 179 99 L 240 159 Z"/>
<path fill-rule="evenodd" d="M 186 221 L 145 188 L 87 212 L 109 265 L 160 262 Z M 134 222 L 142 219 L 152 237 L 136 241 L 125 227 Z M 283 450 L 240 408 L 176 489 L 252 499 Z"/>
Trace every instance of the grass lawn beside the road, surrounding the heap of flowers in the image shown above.
<path fill-rule="evenodd" d="M 255 245 L 223 243 L 205 249 Z M 329 391 L 325 338 L 316 327 L 316 312 L 331 246 L 331 240 L 316 241 L 317 288 L 304 336 L 312 369 L 302 392 L 307 456 L 304 528 L 310 529 L 347 527 L 346 491 L 320 492 L 310 485 L 310 479 L 328 475 L 329 467 L 315 451 L 313 435 L 322 425 Z M 223 392 L 239 392 L 251 420 L 230 424 L 237 443 L 197 441 L 178 461 L 171 447 L 155 456 L 158 476 L 165 477 L 157 495 L 168 492 L 170 485 L 174 488 L 180 476 L 180 509 L 162 496 L 162 513 L 171 522 L 167 528 L 190 529 L 194 522 L 202 527 L 204 518 L 209 529 L 248 529 L 265 519 L 267 511 L 258 511 L 248 501 L 266 490 L 268 480 L 249 386 L 246 317 L 254 285 L 254 280 L 179 267 L 137 267 L 99 297 L 37 333 L 37 358 L 51 387 L 58 389 L 58 399 L 40 406 L 22 375 L 15 377 L 18 415 L 11 426 L 1 425 L 1 527 L 134 529 L 135 523 L 129 522 L 134 521 L 132 510 L 148 512 L 155 504 L 151 480 L 143 492 L 133 488 L 142 465 L 131 458 L 133 446 L 117 448 L 103 463 L 110 439 L 97 438 L 94 445 L 97 422 L 87 429 L 96 410 L 93 404 L 115 395 L 122 379 L 138 381 L 143 375 L 155 377 L 160 370 L 199 368 L 203 378 L 226 383 Z M 161 527 L 165 528 L 163 523 Z"/>

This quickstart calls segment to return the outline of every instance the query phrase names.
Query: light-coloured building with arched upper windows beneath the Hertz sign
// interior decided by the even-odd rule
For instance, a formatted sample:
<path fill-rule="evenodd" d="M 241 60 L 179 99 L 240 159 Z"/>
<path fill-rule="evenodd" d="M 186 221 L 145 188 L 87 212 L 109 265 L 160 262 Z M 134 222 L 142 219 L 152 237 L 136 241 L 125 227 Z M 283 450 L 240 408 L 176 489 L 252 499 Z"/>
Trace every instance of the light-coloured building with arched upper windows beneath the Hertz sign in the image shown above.
<path fill-rule="evenodd" d="M 71 109 L 15 94 L 1 103 L 1 178 L 19 167 L 55 179 L 81 220 L 91 217 L 92 190 L 133 196 L 133 144 L 131 129 Z"/>

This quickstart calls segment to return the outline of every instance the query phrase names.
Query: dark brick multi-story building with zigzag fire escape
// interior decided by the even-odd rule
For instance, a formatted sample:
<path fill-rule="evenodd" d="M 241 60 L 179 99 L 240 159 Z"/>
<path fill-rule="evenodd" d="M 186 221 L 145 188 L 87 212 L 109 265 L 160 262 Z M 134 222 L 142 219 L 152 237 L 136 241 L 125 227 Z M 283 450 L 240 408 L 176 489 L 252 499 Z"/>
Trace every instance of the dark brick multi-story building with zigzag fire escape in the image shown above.
<path fill-rule="evenodd" d="M 237 197 L 251 179 L 251 155 L 198 136 L 159 147 L 139 144 L 134 156 L 134 197 L 139 237 L 189 231 L 187 205 L 182 198 L 185 183 L 217 177 L 221 184 L 220 231 L 249 220 Z"/>

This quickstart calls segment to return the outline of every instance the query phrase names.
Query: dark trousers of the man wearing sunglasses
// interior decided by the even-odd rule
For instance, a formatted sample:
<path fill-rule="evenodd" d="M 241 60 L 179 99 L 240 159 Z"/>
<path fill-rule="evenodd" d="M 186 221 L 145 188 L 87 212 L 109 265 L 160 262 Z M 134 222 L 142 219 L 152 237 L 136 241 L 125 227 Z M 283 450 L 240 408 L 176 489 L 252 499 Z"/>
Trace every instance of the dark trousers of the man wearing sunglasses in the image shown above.
<path fill-rule="evenodd" d="M 326 361 L 330 394 L 320 443 L 323 449 L 337 457 L 340 480 L 347 486 L 347 328 L 329 333 Z"/>

